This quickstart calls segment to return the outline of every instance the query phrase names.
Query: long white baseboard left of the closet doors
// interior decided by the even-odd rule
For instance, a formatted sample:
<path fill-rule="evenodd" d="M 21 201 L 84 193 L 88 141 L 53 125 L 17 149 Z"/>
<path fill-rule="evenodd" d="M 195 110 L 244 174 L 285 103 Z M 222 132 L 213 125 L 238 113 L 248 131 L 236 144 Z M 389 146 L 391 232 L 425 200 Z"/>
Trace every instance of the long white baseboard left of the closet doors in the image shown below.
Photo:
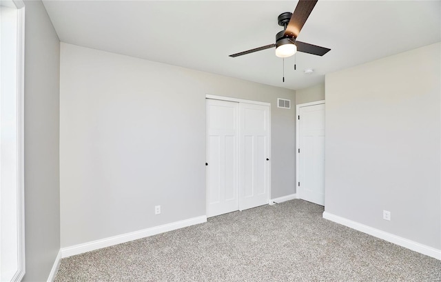
<path fill-rule="evenodd" d="M 83 252 L 90 252 L 101 248 L 110 247 L 111 245 L 118 245 L 128 241 L 153 236 L 167 231 L 176 230 L 179 228 L 185 228 L 187 226 L 195 225 L 198 223 L 207 222 L 207 216 L 197 216 L 192 219 L 185 219 L 183 221 L 176 221 L 164 225 L 155 226 L 135 232 L 116 235 L 96 241 L 90 241 L 88 243 L 82 243 L 79 245 L 72 245 L 70 247 L 61 248 L 61 257 L 74 256 L 75 254 L 82 254 Z"/>

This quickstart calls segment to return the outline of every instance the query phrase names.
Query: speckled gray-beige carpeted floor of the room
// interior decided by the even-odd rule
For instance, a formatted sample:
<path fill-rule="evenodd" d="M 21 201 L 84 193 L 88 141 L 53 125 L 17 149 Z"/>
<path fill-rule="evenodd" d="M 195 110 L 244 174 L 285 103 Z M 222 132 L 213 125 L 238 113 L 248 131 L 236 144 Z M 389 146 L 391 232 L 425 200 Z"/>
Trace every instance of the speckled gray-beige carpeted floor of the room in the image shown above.
<path fill-rule="evenodd" d="M 322 219 L 302 200 L 61 260 L 55 281 L 441 281 L 441 261 Z"/>

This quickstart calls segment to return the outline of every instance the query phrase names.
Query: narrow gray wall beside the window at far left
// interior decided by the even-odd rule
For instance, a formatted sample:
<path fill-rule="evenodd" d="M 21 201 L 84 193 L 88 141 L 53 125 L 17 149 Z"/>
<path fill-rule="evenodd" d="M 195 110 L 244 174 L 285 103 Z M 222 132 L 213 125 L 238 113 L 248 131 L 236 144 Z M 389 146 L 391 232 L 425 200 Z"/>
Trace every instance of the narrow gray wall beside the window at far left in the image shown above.
<path fill-rule="evenodd" d="M 46 281 L 60 248 L 60 44 L 41 1 L 25 1 L 25 263 Z"/>

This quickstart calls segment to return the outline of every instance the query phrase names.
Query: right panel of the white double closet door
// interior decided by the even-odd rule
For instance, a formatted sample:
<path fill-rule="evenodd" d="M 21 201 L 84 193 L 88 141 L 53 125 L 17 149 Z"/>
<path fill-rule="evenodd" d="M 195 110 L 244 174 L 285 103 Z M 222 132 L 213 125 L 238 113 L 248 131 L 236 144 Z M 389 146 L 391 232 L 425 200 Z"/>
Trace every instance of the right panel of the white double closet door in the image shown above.
<path fill-rule="evenodd" d="M 269 200 L 269 106 L 240 103 L 240 210 Z"/>

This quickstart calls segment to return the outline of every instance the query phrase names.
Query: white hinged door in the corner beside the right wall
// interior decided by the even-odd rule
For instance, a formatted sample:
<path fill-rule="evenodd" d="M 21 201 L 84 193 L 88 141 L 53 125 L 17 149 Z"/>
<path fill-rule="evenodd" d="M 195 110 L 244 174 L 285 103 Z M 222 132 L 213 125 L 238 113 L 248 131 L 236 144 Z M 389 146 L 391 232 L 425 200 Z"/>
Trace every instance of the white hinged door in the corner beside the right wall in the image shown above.
<path fill-rule="evenodd" d="M 298 107 L 298 197 L 325 205 L 325 103 Z"/>

